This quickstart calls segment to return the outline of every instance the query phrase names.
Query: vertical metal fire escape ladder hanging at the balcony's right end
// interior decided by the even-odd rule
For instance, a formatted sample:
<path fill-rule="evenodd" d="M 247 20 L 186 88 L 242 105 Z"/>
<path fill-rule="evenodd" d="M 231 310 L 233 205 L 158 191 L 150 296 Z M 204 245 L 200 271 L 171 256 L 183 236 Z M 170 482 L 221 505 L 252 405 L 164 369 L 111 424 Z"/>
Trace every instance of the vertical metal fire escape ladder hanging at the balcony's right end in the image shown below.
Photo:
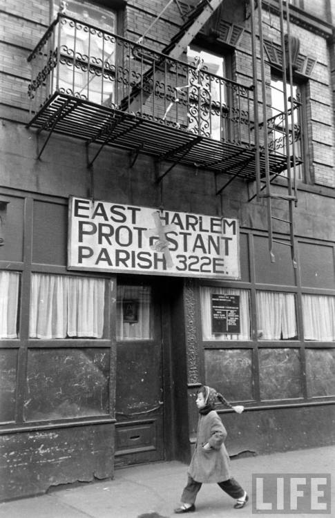
<path fill-rule="evenodd" d="M 253 78 L 254 78 L 254 119 L 255 119 L 255 147 L 256 147 L 256 195 L 253 195 L 250 200 L 257 197 L 258 200 L 265 198 L 267 207 L 267 227 L 269 234 L 269 253 L 271 262 L 276 262 L 274 254 L 274 243 L 284 244 L 291 248 L 291 258 L 294 268 L 297 267 L 296 263 L 296 248 L 294 238 L 294 207 L 297 203 L 297 191 L 296 191 L 296 165 L 297 160 L 294 152 L 294 109 L 296 104 L 293 96 L 293 84 L 292 84 L 292 60 L 291 60 L 291 49 L 290 49 L 290 33 L 289 33 L 289 2 L 286 3 L 286 21 L 287 21 L 287 37 L 285 42 L 284 35 L 284 11 L 283 11 L 283 0 L 278 0 L 279 3 L 279 18 L 280 18 L 280 46 L 283 52 L 283 61 L 281 66 L 281 75 L 283 79 L 283 99 L 284 99 L 284 111 L 283 111 L 283 124 L 281 126 L 281 141 L 283 142 L 283 160 L 278 165 L 271 166 L 270 158 L 273 153 L 276 153 L 276 134 L 273 128 L 269 128 L 269 122 L 271 118 L 267 117 L 267 82 L 265 78 L 265 55 L 264 55 L 264 40 L 262 32 L 262 2 L 257 2 L 258 10 L 258 34 L 259 34 L 259 47 L 260 47 L 260 70 L 261 70 L 261 97 L 262 97 L 262 122 L 258 121 L 258 86 L 257 86 L 257 75 L 256 75 L 256 32 L 255 32 L 255 6 L 254 0 L 251 0 L 251 33 L 252 33 L 252 46 L 253 46 Z M 287 92 L 287 83 L 289 82 L 289 93 Z M 289 99 L 289 100 L 287 100 Z M 291 106 L 288 106 L 288 104 Z M 291 124 L 291 135 L 289 133 L 289 127 Z M 272 131 L 272 142 L 270 141 L 269 135 Z M 290 146 L 290 137 L 292 139 L 292 145 Z M 260 145 L 262 142 L 262 146 Z M 273 150 L 271 153 L 269 144 L 273 144 Z M 292 147 L 292 155 L 290 151 Z M 264 163 L 262 169 L 260 163 Z M 286 171 L 286 175 L 281 173 Z M 281 176 L 285 178 L 285 186 L 280 186 L 280 189 L 285 189 L 284 193 L 278 193 L 274 191 L 274 180 Z M 286 204 L 285 214 L 287 217 L 279 218 L 274 215 L 274 202 L 281 201 Z M 283 203 L 280 209 L 283 210 Z M 274 223 L 280 222 L 285 224 L 285 227 L 289 229 L 289 240 L 276 239 L 274 238 Z"/>

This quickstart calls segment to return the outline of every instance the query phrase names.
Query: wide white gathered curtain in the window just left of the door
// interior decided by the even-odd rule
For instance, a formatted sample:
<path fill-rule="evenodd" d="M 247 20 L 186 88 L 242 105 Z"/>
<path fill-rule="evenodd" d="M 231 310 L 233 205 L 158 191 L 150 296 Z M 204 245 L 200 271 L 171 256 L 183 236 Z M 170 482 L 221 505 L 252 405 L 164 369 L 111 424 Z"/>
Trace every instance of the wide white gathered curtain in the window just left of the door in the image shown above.
<path fill-rule="evenodd" d="M 32 274 L 30 338 L 102 338 L 104 279 Z"/>

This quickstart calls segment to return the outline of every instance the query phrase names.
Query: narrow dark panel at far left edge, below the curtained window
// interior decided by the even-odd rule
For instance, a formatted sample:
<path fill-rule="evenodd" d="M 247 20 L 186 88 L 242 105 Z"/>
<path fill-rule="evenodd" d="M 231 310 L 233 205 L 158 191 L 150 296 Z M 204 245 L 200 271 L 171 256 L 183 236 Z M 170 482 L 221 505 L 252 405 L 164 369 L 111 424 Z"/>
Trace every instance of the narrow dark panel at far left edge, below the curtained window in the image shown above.
<path fill-rule="evenodd" d="M 0 349 L 0 421 L 15 421 L 17 349 Z"/>

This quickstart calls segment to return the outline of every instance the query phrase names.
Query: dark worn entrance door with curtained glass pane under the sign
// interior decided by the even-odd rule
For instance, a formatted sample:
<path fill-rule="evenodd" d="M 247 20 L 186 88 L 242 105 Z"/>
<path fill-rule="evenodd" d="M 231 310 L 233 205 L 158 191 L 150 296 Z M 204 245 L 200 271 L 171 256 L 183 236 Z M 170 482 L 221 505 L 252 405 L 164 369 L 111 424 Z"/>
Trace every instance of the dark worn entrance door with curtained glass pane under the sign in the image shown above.
<path fill-rule="evenodd" d="M 117 286 L 115 466 L 164 459 L 162 333 L 155 291 L 150 282 Z"/>

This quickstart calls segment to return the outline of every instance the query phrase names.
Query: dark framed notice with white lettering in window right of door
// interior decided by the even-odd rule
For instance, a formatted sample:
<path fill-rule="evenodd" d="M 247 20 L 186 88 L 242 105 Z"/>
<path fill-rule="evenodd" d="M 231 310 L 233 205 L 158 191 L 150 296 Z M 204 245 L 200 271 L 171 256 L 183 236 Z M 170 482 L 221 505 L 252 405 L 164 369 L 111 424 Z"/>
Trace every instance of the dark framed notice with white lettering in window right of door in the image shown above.
<path fill-rule="evenodd" d="M 211 325 L 213 334 L 240 334 L 240 296 L 212 294 Z"/>

